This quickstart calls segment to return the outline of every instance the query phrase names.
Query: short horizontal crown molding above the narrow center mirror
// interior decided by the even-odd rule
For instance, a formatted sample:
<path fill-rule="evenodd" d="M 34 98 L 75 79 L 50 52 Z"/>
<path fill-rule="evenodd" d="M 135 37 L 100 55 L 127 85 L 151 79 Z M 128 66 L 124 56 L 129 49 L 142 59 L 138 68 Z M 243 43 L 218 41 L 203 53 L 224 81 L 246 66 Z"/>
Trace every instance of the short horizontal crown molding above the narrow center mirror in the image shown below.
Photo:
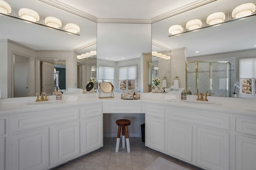
<path fill-rule="evenodd" d="M 151 20 L 134 18 L 98 18 L 98 23 L 151 24 Z"/>

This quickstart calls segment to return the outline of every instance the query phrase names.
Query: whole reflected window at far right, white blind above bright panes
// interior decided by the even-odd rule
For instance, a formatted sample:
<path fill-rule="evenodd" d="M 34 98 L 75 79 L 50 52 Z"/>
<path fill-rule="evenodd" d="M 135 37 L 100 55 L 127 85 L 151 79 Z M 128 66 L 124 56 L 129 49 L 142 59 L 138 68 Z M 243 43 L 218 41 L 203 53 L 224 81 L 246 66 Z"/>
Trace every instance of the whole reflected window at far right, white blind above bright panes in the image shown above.
<path fill-rule="evenodd" d="M 239 60 L 240 97 L 256 98 L 256 58 Z"/>

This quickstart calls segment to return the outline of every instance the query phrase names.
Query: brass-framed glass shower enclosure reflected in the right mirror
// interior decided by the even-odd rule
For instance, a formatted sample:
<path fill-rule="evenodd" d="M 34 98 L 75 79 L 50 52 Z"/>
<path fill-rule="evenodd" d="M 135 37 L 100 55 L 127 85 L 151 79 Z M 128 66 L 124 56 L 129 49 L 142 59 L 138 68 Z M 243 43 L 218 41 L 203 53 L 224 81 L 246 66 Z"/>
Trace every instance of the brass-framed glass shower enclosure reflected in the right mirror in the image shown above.
<path fill-rule="evenodd" d="M 230 97 L 230 63 L 228 61 L 186 62 L 186 89 L 192 94 L 214 93 L 212 96 Z"/>

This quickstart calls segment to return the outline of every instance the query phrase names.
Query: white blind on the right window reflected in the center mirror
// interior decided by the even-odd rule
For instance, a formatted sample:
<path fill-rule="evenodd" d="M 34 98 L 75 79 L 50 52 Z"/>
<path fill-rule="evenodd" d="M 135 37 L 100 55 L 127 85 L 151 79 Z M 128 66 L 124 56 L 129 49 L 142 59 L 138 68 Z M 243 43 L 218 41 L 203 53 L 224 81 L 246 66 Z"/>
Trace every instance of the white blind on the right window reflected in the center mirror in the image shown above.
<path fill-rule="evenodd" d="M 137 79 L 137 65 L 119 67 L 119 80 Z"/>

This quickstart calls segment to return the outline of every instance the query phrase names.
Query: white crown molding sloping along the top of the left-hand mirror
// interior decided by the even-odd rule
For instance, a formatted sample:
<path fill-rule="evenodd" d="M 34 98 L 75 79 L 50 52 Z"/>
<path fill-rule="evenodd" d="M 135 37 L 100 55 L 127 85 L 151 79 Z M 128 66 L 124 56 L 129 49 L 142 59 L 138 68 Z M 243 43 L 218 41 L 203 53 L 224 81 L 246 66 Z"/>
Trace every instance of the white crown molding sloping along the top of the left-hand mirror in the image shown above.
<path fill-rule="evenodd" d="M 86 19 L 91 20 L 93 22 L 97 22 L 98 18 L 96 16 L 93 16 L 91 14 L 88 14 L 88 13 L 84 12 L 84 11 L 78 10 L 76 8 L 73 8 L 73 7 L 71 7 L 67 4 L 59 2 L 58 0 L 39 0 L 39 1 L 44 2 L 46 4 L 49 4 L 51 6 L 55 6 L 57 8 L 60 8 L 62 10 L 65 10 L 67 12 L 75 14 L 75 15 L 80 16 L 82 18 L 86 18 Z"/>

